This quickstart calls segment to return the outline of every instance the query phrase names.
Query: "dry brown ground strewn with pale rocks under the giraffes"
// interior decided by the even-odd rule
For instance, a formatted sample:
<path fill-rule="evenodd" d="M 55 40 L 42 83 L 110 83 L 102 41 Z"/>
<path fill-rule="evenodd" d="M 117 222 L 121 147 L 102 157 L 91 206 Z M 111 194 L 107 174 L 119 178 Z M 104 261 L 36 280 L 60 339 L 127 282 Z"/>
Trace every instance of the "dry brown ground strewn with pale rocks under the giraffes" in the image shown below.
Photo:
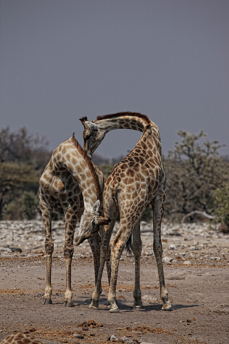
<path fill-rule="evenodd" d="M 118 223 L 114 231 L 117 228 Z M 173 306 L 173 312 L 163 312 L 153 234 L 147 232 L 151 229 L 152 225 L 141 223 L 144 309 L 131 308 L 134 260 L 123 252 L 117 283 L 121 313 L 111 314 L 106 268 L 100 309 L 88 308 L 94 273 L 87 241 L 75 248 L 73 258 L 75 307 L 64 308 L 64 222 L 53 221 L 53 304 L 42 305 L 46 275 L 43 222 L 1 221 L 0 340 L 9 333 L 28 332 L 50 344 L 228 342 L 228 235 L 218 233 L 209 223 L 162 224 L 165 280 Z"/>

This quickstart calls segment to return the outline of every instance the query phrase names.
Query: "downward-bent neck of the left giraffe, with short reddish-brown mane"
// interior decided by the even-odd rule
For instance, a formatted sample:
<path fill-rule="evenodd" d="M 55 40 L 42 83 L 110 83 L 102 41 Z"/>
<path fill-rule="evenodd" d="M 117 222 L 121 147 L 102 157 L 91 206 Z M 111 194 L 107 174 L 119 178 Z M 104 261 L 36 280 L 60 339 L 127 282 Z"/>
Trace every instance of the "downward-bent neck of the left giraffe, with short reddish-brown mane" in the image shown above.
<path fill-rule="evenodd" d="M 80 149 L 77 149 L 72 138 L 64 141 L 54 152 L 51 164 L 55 175 L 61 175 L 66 170 L 73 175 L 83 194 L 84 208 L 90 209 L 99 198 L 100 187 L 94 166 Z"/>

